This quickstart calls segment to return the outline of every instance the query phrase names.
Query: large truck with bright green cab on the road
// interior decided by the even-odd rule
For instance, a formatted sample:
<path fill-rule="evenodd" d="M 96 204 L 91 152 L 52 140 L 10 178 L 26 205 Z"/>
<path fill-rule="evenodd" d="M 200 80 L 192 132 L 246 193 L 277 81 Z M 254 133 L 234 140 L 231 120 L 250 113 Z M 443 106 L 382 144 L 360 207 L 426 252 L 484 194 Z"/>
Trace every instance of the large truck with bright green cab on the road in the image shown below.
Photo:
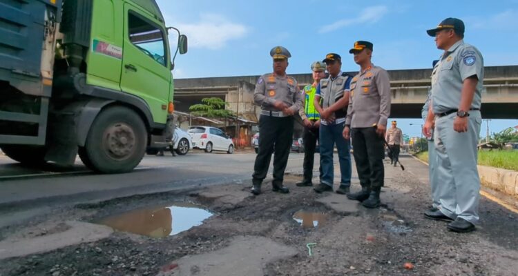
<path fill-rule="evenodd" d="M 171 70 L 186 51 L 155 0 L 0 0 L 1 150 L 133 170 L 173 136 Z"/>

